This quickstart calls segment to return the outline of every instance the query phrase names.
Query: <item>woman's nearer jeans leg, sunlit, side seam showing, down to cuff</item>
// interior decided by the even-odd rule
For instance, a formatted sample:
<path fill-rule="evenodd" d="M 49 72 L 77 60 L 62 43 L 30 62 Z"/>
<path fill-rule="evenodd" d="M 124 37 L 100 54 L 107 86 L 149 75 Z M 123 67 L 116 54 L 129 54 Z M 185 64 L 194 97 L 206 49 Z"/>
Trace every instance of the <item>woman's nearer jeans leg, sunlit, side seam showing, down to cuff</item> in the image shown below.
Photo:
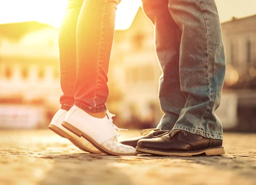
<path fill-rule="evenodd" d="M 75 105 L 87 113 L 104 113 L 107 73 L 120 0 L 84 0 L 76 30 Z"/>

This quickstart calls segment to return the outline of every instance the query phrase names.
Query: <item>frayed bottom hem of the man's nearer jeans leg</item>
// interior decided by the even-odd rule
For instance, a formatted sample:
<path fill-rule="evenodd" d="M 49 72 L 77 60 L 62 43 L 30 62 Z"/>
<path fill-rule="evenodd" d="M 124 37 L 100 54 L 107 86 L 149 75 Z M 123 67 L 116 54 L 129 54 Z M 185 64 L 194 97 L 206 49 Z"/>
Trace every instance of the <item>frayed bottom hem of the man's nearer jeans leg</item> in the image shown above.
<path fill-rule="evenodd" d="M 172 130 L 177 130 L 177 129 L 185 130 L 185 131 L 187 131 L 189 133 L 197 134 L 197 135 L 200 135 L 200 136 L 203 136 L 203 137 L 206 137 L 206 138 L 210 138 L 210 139 L 220 139 L 220 140 L 223 140 L 222 134 L 211 134 L 211 133 L 207 133 L 207 132 L 204 132 L 202 130 L 195 129 L 195 128 L 191 128 L 191 127 L 187 127 L 187 126 L 184 126 L 184 125 L 177 125 L 176 124 L 173 127 Z"/>

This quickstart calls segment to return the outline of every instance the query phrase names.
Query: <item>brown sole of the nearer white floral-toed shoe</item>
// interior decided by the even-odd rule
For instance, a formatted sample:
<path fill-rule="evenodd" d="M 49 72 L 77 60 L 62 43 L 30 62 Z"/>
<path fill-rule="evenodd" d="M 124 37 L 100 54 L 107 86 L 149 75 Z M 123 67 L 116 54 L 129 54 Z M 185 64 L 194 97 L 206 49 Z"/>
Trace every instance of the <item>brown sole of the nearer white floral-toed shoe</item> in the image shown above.
<path fill-rule="evenodd" d="M 83 137 L 88 142 L 90 142 L 94 147 L 96 147 L 99 151 L 111 155 L 111 156 L 136 156 L 137 153 L 116 153 L 111 150 L 106 149 L 105 147 L 102 147 L 102 145 L 99 145 L 94 139 L 92 139 L 90 136 L 88 136 L 86 133 L 82 132 L 81 130 L 74 127 L 72 124 L 63 121 L 62 126 L 69 130 L 70 132 L 76 134 L 78 137 Z"/>

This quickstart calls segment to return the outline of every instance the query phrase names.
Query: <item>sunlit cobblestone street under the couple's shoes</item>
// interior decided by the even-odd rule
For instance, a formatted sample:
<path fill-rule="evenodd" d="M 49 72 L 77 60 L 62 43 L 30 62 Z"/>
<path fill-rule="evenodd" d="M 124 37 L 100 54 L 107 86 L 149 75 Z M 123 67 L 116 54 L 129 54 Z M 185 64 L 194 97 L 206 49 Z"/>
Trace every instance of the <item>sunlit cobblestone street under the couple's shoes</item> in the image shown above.
<path fill-rule="evenodd" d="M 0 185 L 256 185 L 256 134 L 225 133 L 224 147 L 224 156 L 107 156 L 50 130 L 2 130 Z"/>

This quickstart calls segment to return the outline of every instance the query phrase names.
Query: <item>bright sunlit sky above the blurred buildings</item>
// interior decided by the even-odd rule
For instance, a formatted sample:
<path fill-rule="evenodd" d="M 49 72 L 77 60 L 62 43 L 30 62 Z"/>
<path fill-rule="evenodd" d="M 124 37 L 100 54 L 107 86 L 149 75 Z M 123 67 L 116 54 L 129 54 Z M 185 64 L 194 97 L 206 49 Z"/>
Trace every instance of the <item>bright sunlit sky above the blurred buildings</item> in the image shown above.
<path fill-rule="evenodd" d="M 215 0 L 221 22 L 231 17 L 256 14 L 256 0 Z M 59 27 L 67 0 L 0 0 L 0 23 L 36 20 Z M 116 29 L 127 29 L 141 5 L 140 0 L 122 0 L 116 12 Z"/>

